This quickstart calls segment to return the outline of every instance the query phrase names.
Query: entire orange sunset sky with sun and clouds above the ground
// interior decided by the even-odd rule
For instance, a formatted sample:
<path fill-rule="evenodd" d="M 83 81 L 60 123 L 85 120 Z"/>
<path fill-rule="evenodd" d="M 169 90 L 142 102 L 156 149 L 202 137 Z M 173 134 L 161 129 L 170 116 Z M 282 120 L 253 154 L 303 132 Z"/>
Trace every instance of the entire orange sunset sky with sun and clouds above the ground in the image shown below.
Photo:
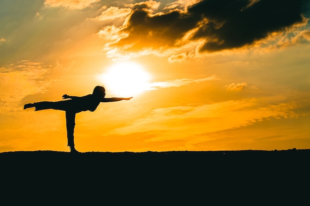
<path fill-rule="evenodd" d="M 309 0 L 1 0 L 0 152 L 310 149 Z"/>

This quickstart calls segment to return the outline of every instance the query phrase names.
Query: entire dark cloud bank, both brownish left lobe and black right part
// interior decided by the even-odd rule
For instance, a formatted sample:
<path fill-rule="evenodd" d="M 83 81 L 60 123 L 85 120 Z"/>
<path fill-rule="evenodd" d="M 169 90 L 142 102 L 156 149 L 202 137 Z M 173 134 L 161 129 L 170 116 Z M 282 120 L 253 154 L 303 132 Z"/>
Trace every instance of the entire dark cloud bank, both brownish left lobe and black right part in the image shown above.
<path fill-rule="evenodd" d="M 187 12 L 152 15 L 145 7 L 133 10 L 125 29 L 130 35 L 119 44 L 132 48 L 176 46 L 197 28 L 190 40 L 206 40 L 201 51 L 238 48 L 261 40 L 271 32 L 302 22 L 308 0 L 203 0 Z"/>

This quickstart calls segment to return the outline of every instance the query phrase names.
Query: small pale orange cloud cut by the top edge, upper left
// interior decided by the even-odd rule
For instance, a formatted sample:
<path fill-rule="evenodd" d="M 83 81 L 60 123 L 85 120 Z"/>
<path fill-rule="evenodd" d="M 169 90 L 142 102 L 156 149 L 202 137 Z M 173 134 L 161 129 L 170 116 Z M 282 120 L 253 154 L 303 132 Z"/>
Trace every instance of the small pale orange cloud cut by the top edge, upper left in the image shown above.
<path fill-rule="evenodd" d="M 65 7 L 69 9 L 83 9 L 99 0 L 45 0 L 44 4 L 50 7 Z"/>

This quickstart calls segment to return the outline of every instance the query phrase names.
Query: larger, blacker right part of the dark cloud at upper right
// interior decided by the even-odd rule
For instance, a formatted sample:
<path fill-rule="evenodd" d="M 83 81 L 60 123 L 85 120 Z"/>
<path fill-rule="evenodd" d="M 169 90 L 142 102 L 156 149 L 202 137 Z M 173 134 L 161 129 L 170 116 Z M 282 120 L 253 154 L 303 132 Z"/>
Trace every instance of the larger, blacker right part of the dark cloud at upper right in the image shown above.
<path fill-rule="evenodd" d="M 271 32 L 302 22 L 305 0 L 205 0 L 189 12 L 210 22 L 193 39 L 206 38 L 201 50 L 217 51 L 251 44 Z M 221 26 L 216 27 L 217 24 Z M 215 26 L 214 26 L 215 25 Z"/>

